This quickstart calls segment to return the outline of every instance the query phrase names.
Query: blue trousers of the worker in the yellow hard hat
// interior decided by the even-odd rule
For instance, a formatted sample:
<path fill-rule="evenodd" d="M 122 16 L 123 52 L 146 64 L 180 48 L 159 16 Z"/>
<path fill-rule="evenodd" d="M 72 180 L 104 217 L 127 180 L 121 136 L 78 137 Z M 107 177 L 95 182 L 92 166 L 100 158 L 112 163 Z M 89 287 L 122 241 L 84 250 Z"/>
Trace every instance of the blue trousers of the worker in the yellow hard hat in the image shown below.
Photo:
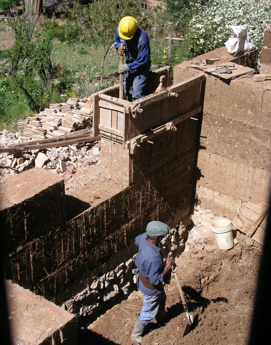
<path fill-rule="evenodd" d="M 128 101 L 132 102 L 132 98 L 139 99 L 145 96 L 144 90 L 148 81 L 151 62 L 137 72 L 125 72 L 124 75 L 124 93 Z"/>

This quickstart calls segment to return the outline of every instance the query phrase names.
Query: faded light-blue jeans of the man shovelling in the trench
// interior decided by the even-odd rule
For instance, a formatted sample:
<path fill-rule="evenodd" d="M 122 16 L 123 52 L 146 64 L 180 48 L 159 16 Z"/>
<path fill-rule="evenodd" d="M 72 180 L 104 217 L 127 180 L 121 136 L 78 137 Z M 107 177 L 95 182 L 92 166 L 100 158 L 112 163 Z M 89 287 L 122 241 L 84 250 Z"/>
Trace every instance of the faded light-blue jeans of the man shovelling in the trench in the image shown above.
<path fill-rule="evenodd" d="M 157 314 L 158 309 L 163 309 L 165 307 L 165 296 L 164 289 L 158 295 L 147 296 L 143 294 L 143 308 L 139 315 L 139 321 L 143 324 L 147 324 L 152 318 Z"/>

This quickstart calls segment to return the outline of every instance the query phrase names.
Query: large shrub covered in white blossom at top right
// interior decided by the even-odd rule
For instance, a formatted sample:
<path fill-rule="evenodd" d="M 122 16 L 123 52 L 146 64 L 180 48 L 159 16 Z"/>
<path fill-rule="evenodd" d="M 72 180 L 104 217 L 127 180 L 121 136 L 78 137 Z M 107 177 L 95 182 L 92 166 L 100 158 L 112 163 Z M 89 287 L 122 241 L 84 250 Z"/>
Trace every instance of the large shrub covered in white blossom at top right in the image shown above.
<path fill-rule="evenodd" d="M 244 25 L 251 41 L 262 48 L 264 32 L 271 26 L 270 0 L 214 0 L 202 6 L 190 3 L 193 17 L 185 37 L 195 55 L 224 46 L 232 36 L 228 25 Z M 182 16 L 187 13 L 182 13 Z"/>

